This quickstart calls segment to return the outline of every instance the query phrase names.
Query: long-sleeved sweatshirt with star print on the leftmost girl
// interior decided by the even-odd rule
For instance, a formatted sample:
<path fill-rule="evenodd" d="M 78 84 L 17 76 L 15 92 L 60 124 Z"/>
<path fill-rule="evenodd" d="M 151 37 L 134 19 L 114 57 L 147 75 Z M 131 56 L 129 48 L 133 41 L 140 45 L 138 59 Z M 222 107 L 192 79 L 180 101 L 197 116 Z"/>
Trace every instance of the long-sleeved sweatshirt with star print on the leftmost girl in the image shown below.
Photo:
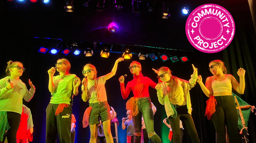
<path fill-rule="evenodd" d="M 13 83 L 14 88 L 9 91 L 6 86 L 10 82 Z M 15 113 L 22 113 L 22 98 L 27 102 L 31 100 L 35 94 L 35 88 L 27 90 L 26 84 L 21 80 L 16 81 L 11 76 L 6 76 L 0 80 L 0 111 L 10 111 Z"/>

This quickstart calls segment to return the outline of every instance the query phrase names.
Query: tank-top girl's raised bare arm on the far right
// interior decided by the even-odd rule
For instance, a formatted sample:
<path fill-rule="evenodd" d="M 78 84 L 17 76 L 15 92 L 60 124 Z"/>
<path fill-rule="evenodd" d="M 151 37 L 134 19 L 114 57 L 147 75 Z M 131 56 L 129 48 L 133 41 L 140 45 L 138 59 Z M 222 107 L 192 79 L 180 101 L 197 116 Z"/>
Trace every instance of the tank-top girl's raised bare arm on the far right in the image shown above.
<path fill-rule="evenodd" d="M 245 83 L 245 73 L 246 70 L 240 67 L 237 71 L 237 75 L 239 76 L 240 83 L 236 81 L 236 78 L 232 75 L 228 75 L 228 78 L 231 79 L 232 87 L 235 91 L 237 91 L 239 94 L 244 94 L 246 83 Z"/>

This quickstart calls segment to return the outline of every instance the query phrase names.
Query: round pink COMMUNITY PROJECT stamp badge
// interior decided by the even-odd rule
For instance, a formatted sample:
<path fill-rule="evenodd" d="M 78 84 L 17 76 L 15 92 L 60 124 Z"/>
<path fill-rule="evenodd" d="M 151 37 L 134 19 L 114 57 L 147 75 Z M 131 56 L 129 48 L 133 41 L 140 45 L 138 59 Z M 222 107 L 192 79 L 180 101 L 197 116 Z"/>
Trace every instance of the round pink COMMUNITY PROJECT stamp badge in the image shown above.
<path fill-rule="evenodd" d="M 234 34 L 234 19 L 220 5 L 201 5 L 189 14 L 186 22 L 187 38 L 201 52 L 220 52 L 230 44 Z"/>

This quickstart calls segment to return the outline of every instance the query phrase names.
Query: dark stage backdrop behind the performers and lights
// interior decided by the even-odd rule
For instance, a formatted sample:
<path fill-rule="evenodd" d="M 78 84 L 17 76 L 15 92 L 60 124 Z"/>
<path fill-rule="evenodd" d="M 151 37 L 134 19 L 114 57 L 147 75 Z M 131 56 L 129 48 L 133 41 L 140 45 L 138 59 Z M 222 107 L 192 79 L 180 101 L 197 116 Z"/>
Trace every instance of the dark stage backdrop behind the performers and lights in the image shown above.
<path fill-rule="evenodd" d="M 57 1 L 57 0 L 56 0 Z M 61 1 L 61 0 L 60 0 Z M 64 0 L 63 0 L 64 1 Z M 179 0 L 180 1 L 180 0 Z M 177 5 L 178 0 L 174 3 Z M 106 3 L 111 4 L 106 0 Z M 98 76 L 102 76 L 111 71 L 113 64 L 121 54 L 111 53 L 109 58 L 102 58 L 99 52 L 95 52 L 93 57 L 84 57 L 83 55 L 68 56 L 58 53 L 51 55 L 49 53 L 42 54 L 37 52 L 38 43 L 33 37 L 49 37 L 62 38 L 67 40 L 81 40 L 91 42 L 105 43 L 122 43 L 122 44 L 142 44 L 148 46 L 163 46 L 167 48 L 178 48 L 194 50 L 194 52 L 176 52 L 178 57 L 186 55 L 189 62 L 171 62 L 170 60 L 163 62 L 161 59 L 152 61 L 146 59 L 138 60 L 134 56 L 131 60 L 125 60 L 118 65 L 116 76 L 109 79 L 105 86 L 108 95 L 108 103 L 117 112 L 117 118 L 120 121 L 125 117 L 125 103 L 120 93 L 118 77 L 127 74 L 125 85 L 133 79 L 128 70 L 129 64 L 135 60 L 141 62 L 142 72 L 144 76 L 148 76 L 157 82 L 155 73 L 152 68 L 167 66 L 173 71 L 174 76 L 189 80 L 193 72 L 191 64 L 198 68 L 198 72 L 205 81 L 206 77 L 211 76 L 208 71 L 210 61 L 220 59 L 225 62 L 228 73 L 232 74 L 239 81 L 237 69 L 243 67 L 246 69 L 246 90 L 244 95 L 238 95 L 251 105 L 256 105 L 256 36 L 253 29 L 251 13 L 248 2 L 246 0 L 220 1 L 220 0 L 196 0 L 182 1 L 182 3 L 190 3 L 192 9 L 206 4 L 214 3 L 225 7 L 232 14 L 236 24 L 236 34 L 230 45 L 223 51 L 214 54 L 207 54 L 195 50 L 188 42 L 184 33 L 184 25 L 186 18 L 175 16 L 170 19 L 160 19 L 159 13 L 148 15 L 141 12 L 133 14 L 131 5 L 124 7 L 123 11 L 116 14 L 116 21 L 120 24 L 120 33 L 109 34 L 106 31 L 108 23 L 112 22 L 113 9 L 106 6 L 104 13 L 93 13 L 92 10 L 81 10 L 77 13 L 63 12 L 63 6 L 54 5 L 43 7 L 40 3 L 36 3 L 36 7 L 32 7 L 30 3 L 20 5 L 13 2 L 0 2 L 0 78 L 5 77 L 6 62 L 9 60 L 20 61 L 24 63 L 26 72 L 20 79 L 28 85 L 28 79 L 33 81 L 36 86 L 36 94 L 30 102 L 24 101 L 32 112 L 34 121 L 34 141 L 33 143 L 45 142 L 45 124 L 46 124 L 46 106 L 48 105 L 51 95 L 48 91 L 48 74 L 47 70 L 54 66 L 57 59 L 67 58 L 71 62 L 71 73 L 76 74 L 82 79 L 82 67 L 91 62 L 98 71 Z M 33 6 L 35 6 L 33 5 Z M 173 6 L 177 8 L 178 6 Z M 79 10 L 79 9 L 78 9 Z M 174 11 L 174 10 L 173 10 Z M 87 12 L 87 13 L 86 13 Z M 106 16 L 107 15 L 107 16 Z M 144 17 L 146 16 L 146 17 Z M 68 30 L 67 30 L 68 29 Z M 65 31 L 67 30 L 67 31 Z M 164 106 L 159 104 L 156 91 L 149 88 L 152 102 L 157 107 L 154 116 L 154 127 L 156 133 L 162 138 L 163 143 L 169 143 L 169 129 L 162 123 L 166 118 Z M 191 102 L 193 107 L 192 117 L 195 127 L 200 137 L 201 143 L 215 143 L 215 129 L 211 121 L 204 116 L 206 97 L 196 85 L 190 91 Z M 132 97 L 129 95 L 128 98 Z M 73 114 L 77 119 L 77 135 L 76 143 L 88 143 L 90 138 L 89 127 L 82 128 L 82 116 L 88 103 L 81 99 L 81 87 L 79 94 L 74 97 Z M 249 140 L 256 143 L 256 116 L 251 114 L 248 124 Z M 126 143 L 126 130 L 122 130 L 121 125 L 118 126 L 119 143 Z M 184 127 L 184 143 L 191 143 L 189 135 Z"/>

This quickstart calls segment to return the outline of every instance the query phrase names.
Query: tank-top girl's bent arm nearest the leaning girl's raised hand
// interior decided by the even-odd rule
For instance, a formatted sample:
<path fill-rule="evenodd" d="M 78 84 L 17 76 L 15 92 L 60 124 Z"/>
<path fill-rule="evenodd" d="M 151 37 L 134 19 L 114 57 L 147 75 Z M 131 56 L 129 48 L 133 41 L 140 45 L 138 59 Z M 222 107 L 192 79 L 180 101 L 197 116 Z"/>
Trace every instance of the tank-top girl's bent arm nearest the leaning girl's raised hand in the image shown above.
<path fill-rule="evenodd" d="M 211 81 L 210 81 L 210 78 L 211 77 L 207 77 L 206 81 L 205 81 L 205 85 L 202 81 L 202 76 L 198 76 L 197 78 L 197 82 L 199 83 L 202 91 L 204 92 L 204 94 L 207 96 L 207 97 L 210 97 L 212 95 L 212 89 L 211 89 Z"/>

